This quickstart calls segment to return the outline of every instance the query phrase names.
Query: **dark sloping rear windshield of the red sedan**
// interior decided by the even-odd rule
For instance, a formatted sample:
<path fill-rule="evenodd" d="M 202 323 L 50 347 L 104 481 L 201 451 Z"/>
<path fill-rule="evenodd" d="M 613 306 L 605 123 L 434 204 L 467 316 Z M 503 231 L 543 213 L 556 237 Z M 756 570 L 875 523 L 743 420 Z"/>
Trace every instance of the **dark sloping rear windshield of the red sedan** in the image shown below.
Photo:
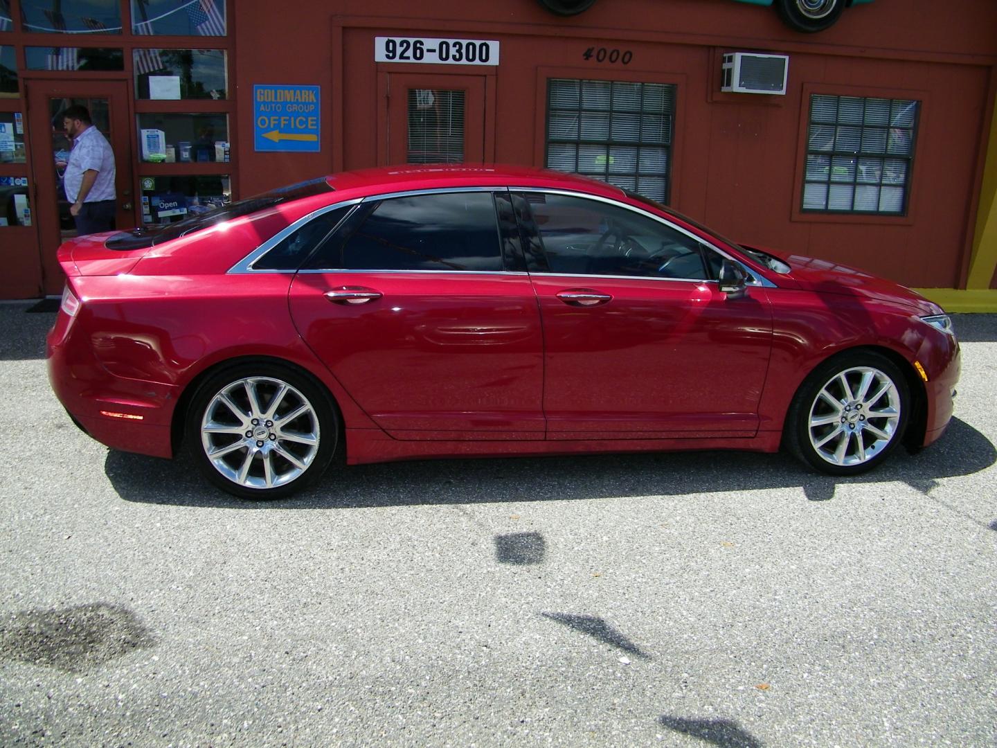
<path fill-rule="evenodd" d="M 258 210 L 273 207 L 280 202 L 310 197 L 314 194 L 331 192 L 332 190 L 333 188 L 329 186 L 324 177 L 317 180 L 309 180 L 308 182 L 300 182 L 290 187 L 279 187 L 271 189 L 268 192 L 247 197 L 246 199 L 229 202 L 226 205 L 219 205 L 205 212 L 192 215 L 189 218 L 178 220 L 175 223 L 139 226 L 131 231 L 121 231 L 108 239 L 106 246 L 108 249 L 119 250 L 143 249 L 168 241 L 169 239 L 184 236 L 193 231 L 209 228 L 232 218 L 238 218 L 242 215 L 248 215 Z"/>

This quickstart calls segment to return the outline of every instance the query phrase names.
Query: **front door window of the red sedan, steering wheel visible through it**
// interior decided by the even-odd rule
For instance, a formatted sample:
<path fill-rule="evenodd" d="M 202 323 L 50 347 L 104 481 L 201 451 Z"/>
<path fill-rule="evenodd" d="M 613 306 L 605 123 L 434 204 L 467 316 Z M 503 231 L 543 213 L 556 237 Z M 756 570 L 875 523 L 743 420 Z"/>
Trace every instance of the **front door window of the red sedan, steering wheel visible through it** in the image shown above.
<path fill-rule="evenodd" d="M 692 236 L 599 200 L 525 192 L 547 268 L 582 275 L 706 280 L 703 247 Z"/>

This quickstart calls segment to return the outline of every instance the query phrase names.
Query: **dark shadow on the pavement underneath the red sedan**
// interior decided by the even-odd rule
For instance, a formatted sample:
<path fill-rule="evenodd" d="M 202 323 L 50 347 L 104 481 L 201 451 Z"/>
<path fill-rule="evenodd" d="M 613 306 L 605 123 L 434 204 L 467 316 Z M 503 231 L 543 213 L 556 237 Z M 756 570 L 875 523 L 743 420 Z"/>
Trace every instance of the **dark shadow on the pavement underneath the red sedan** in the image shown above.
<path fill-rule="evenodd" d="M 609 497 L 739 493 L 799 487 L 811 501 L 839 485 L 891 481 L 928 494 L 940 479 L 972 475 L 997 450 L 958 418 L 918 455 L 898 450 L 878 469 L 840 479 L 808 471 L 786 454 L 670 452 L 546 458 L 436 460 L 330 468 L 316 486 L 290 499 L 254 502 L 208 486 L 189 458 L 161 460 L 111 451 L 105 473 L 122 499 L 146 504 L 230 509 L 357 509 Z M 975 522 L 975 520 L 974 520 Z"/>

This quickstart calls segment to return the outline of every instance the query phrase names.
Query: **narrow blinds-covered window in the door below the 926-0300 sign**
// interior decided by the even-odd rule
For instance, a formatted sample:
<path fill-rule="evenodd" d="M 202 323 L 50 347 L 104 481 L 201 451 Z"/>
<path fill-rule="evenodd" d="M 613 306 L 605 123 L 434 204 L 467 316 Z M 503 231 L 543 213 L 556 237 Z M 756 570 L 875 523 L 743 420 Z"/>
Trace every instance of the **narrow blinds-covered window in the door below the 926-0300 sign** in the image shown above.
<path fill-rule="evenodd" d="M 409 89 L 409 164 L 464 161 L 464 91 Z"/>

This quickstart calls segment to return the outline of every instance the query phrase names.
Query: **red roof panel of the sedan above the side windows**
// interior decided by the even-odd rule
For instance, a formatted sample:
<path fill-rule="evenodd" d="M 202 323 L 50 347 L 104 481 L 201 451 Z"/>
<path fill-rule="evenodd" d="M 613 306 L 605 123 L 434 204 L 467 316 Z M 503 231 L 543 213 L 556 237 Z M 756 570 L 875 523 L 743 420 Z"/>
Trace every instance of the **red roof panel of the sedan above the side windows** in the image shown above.
<path fill-rule="evenodd" d="M 362 194 L 445 187 L 544 187 L 619 198 L 623 190 L 577 175 L 499 164 L 419 164 L 340 172 L 326 178 L 337 192 Z M 342 195 L 339 195 L 342 196 Z"/>

